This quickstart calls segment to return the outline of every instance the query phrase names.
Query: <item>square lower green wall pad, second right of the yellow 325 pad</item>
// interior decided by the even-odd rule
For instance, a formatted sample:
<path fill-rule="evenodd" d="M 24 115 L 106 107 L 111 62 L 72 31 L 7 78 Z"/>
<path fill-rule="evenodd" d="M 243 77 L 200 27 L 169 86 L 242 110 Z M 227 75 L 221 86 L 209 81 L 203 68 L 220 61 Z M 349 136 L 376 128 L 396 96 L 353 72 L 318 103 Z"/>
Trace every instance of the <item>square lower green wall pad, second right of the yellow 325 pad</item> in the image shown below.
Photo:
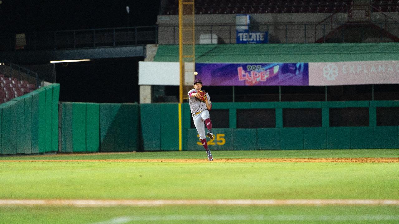
<path fill-rule="evenodd" d="M 257 129 L 257 149 L 259 150 L 278 150 L 280 149 L 280 129 L 279 128 L 258 128 Z"/>

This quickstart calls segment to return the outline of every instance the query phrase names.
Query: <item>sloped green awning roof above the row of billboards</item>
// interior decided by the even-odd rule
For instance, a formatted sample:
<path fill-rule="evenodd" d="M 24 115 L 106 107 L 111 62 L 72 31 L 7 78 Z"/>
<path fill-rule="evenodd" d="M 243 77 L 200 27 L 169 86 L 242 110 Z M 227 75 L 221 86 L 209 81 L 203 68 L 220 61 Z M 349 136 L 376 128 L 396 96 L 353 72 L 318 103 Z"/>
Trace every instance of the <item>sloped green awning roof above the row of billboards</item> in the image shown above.
<path fill-rule="evenodd" d="M 389 61 L 399 43 L 200 44 L 195 54 L 196 63 Z M 159 45 L 154 61 L 179 61 L 179 45 Z"/>

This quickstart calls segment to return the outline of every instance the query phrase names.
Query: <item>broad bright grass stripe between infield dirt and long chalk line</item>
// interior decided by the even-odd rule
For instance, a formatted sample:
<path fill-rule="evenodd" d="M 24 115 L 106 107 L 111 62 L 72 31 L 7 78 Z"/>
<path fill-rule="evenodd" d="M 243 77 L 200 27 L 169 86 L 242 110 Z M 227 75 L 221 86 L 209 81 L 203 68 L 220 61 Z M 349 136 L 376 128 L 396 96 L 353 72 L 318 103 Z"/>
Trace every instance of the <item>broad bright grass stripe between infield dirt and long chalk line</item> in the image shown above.
<path fill-rule="evenodd" d="M 0 163 L 2 199 L 399 199 L 399 163 Z"/>

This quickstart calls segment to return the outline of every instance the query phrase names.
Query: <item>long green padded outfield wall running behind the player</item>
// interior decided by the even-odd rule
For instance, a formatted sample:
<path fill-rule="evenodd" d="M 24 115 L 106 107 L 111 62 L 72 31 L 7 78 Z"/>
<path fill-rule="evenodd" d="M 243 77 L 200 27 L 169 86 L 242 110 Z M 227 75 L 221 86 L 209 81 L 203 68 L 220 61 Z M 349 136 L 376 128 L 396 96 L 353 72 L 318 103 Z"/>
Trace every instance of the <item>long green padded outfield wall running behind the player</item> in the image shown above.
<path fill-rule="evenodd" d="M 179 148 L 176 103 L 58 107 L 58 97 L 59 84 L 52 84 L 0 104 L 0 153 Z M 182 149 L 203 150 L 188 103 L 182 104 L 182 115 Z M 212 150 L 399 147 L 399 101 L 215 102 L 210 115 Z"/>

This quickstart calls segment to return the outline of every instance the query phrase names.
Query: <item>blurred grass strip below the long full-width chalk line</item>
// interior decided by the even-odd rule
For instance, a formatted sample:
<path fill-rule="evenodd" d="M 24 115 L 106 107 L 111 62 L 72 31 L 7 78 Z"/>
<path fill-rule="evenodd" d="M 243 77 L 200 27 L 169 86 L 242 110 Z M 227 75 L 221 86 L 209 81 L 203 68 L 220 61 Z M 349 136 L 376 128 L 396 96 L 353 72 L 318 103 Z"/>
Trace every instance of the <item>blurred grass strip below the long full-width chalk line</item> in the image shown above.
<path fill-rule="evenodd" d="M 397 223 L 395 217 L 399 216 L 398 206 L 396 205 L 168 205 L 168 206 L 107 206 L 107 207 L 77 207 L 77 206 L 0 206 L 0 223 L 7 224 L 113 224 L 122 221 L 126 224 L 265 224 L 265 220 L 246 220 L 251 217 L 262 218 L 272 217 L 297 219 L 294 221 L 268 220 L 267 224 L 320 224 L 322 220 L 298 220 L 304 218 L 326 218 L 341 219 L 339 224 L 393 224 Z M 170 220 L 187 219 L 193 220 Z M 225 218 L 231 220 L 198 220 L 202 218 L 217 219 Z M 344 221 L 343 219 L 364 220 L 354 222 L 354 220 Z M 124 219 L 125 218 L 125 219 Z M 152 219 L 149 221 L 134 221 L 131 219 Z M 196 219 L 196 220 L 194 220 Z M 241 220 L 232 220 L 241 219 Z M 367 220 L 369 221 L 367 221 Z M 371 220 L 374 219 L 374 220 Z M 393 220 L 393 221 L 392 221 Z"/>

